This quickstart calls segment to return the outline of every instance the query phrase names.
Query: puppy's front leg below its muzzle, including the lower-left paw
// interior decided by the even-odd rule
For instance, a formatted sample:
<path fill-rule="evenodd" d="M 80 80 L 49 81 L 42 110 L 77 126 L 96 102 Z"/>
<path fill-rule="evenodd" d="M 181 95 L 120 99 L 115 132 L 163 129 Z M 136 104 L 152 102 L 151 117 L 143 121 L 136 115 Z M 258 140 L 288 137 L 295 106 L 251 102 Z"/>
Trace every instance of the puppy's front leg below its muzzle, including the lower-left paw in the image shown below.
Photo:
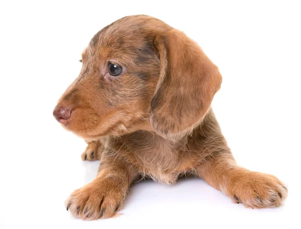
<path fill-rule="evenodd" d="M 114 152 L 103 151 L 97 177 L 73 191 L 65 206 L 74 217 L 85 220 L 112 217 L 122 207 L 137 175 L 128 162 L 116 159 Z"/>

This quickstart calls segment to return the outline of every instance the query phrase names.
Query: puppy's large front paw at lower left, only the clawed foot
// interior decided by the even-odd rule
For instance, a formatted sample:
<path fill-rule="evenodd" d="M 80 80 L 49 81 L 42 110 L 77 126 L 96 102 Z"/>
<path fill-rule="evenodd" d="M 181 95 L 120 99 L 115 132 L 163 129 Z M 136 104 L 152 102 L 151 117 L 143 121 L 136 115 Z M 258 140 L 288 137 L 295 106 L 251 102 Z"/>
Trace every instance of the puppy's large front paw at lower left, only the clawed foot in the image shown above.
<path fill-rule="evenodd" d="M 126 196 L 126 189 L 114 178 L 94 180 L 71 193 L 65 201 L 74 217 L 85 220 L 115 215 Z"/>

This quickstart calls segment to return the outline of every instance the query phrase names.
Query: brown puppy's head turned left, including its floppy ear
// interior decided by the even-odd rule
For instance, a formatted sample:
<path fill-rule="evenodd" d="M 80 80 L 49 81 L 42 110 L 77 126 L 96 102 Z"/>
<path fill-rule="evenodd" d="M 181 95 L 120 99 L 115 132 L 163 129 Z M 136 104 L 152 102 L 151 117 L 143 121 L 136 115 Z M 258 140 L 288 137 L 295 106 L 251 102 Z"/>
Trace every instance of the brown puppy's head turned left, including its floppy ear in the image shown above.
<path fill-rule="evenodd" d="M 53 113 L 87 140 L 139 129 L 177 139 L 202 121 L 220 84 L 218 68 L 183 32 L 127 16 L 94 35 Z"/>

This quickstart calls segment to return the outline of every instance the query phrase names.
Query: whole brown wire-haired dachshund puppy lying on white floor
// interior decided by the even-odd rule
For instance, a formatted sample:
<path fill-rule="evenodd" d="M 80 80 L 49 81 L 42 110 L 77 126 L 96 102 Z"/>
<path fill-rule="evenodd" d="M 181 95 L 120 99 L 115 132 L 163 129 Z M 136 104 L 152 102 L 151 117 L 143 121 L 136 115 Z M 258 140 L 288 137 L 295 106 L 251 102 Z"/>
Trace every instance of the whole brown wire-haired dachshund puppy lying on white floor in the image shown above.
<path fill-rule="evenodd" d="M 67 210 L 107 218 L 139 176 L 174 183 L 193 172 L 247 207 L 279 206 L 286 186 L 236 164 L 210 107 L 222 76 L 183 32 L 146 15 L 104 27 L 82 53 L 83 66 L 54 109 L 83 137 L 83 160 L 97 177 L 71 193 Z"/>

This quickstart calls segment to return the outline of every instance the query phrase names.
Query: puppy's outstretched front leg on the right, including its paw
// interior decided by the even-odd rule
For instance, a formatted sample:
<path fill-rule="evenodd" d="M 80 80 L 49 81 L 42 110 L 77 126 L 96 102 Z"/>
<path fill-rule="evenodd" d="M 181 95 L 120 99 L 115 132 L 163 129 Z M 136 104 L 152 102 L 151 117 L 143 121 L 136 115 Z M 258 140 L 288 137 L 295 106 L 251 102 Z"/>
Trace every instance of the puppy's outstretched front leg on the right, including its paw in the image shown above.
<path fill-rule="evenodd" d="M 238 166 L 230 151 L 208 158 L 197 167 L 197 173 L 234 202 L 246 207 L 276 207 L 287 196 L 287 187 L 277 177 Z"/>

